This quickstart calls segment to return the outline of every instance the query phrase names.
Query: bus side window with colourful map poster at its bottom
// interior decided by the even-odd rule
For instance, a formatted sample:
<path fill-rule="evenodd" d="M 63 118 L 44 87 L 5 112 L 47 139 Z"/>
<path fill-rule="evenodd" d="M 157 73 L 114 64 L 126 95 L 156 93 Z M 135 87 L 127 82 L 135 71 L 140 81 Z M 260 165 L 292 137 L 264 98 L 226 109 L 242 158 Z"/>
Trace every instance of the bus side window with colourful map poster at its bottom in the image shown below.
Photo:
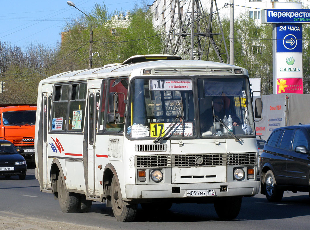
<path fill-rule="evenodd" d="M 68 130 L 82 131 L 85 117 L 87 83 L 71 85 Z"/>

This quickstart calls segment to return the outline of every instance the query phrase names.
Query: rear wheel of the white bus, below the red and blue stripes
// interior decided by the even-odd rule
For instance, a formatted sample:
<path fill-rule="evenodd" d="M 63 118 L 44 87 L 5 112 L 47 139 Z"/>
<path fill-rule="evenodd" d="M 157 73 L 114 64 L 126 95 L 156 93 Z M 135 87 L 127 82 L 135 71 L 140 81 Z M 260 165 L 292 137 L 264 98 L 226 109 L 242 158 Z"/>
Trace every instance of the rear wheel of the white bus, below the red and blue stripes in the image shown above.
<path fill-rule="evenodd" d="M 57 180 L 57 195 L 60 209 L 65 213 L 76 212 L 79 202 L 78 195 L 66 192 L 63 180 L 62 176 L 59 175 Z"/>

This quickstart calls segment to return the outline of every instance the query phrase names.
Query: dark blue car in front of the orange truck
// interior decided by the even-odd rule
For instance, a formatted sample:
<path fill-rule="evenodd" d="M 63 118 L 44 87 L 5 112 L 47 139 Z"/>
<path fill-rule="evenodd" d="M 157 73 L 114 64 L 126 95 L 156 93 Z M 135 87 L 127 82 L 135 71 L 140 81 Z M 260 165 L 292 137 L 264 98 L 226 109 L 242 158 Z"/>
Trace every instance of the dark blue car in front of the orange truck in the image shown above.
<path fill-rule="evenodd" d="M 18 176 L 20 180 L 25 179 L 27 164 L 20 155 L 23 152 L 22 149 L 16 149 L 11 141 L 0 140 L 0 176 Z"/>

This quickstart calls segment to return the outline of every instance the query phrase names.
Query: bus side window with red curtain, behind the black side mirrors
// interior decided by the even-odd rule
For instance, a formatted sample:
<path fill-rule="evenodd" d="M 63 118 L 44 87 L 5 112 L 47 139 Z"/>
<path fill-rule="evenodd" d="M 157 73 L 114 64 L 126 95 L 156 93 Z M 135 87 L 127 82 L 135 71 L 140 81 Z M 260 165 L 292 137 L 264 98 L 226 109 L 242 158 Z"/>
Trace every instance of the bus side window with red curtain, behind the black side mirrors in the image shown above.
<path fill-rule="evenodd" d="M 124 103 L 124 100 L 127 99 L 127 91 L 128 91 L 128 79 L 127 78 L 118 78 L 118 79 L 111 79 L 109 81 L 109 93 L 115 92 L 119 93 L 118 95 L 118 106 L 117 106 L 117 113 L 119 114 L 119 122 L 106 122 L 106 130 L 107 132 L 123 132 L 124 130 L 124 113 L 126 104 Z M 110 94 L 108 94 L 111 96 Z M 112 96 L 113 97 L 113 96 Z M 110 98 L 109 98 L 110 99 Z M 113 100 L 113 98 L 111 99 Z M 107 110 L 108 114 L 114 114 L 114 111 Z"/>

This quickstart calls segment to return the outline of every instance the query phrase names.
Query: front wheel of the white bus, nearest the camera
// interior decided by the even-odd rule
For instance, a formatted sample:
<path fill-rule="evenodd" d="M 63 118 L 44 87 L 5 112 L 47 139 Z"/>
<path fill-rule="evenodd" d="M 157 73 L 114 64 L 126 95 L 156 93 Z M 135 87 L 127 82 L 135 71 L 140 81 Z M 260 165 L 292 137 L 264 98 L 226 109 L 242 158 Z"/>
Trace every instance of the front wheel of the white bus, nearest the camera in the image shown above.
<path fill-rule="evenodd" d="M 111 183 L 111 204 L 115 218 L 119 222 L 130 222 L 135 219 L 137 204 L 126 204 L 122 200 L 121 189 L 115 177 Z"/>

